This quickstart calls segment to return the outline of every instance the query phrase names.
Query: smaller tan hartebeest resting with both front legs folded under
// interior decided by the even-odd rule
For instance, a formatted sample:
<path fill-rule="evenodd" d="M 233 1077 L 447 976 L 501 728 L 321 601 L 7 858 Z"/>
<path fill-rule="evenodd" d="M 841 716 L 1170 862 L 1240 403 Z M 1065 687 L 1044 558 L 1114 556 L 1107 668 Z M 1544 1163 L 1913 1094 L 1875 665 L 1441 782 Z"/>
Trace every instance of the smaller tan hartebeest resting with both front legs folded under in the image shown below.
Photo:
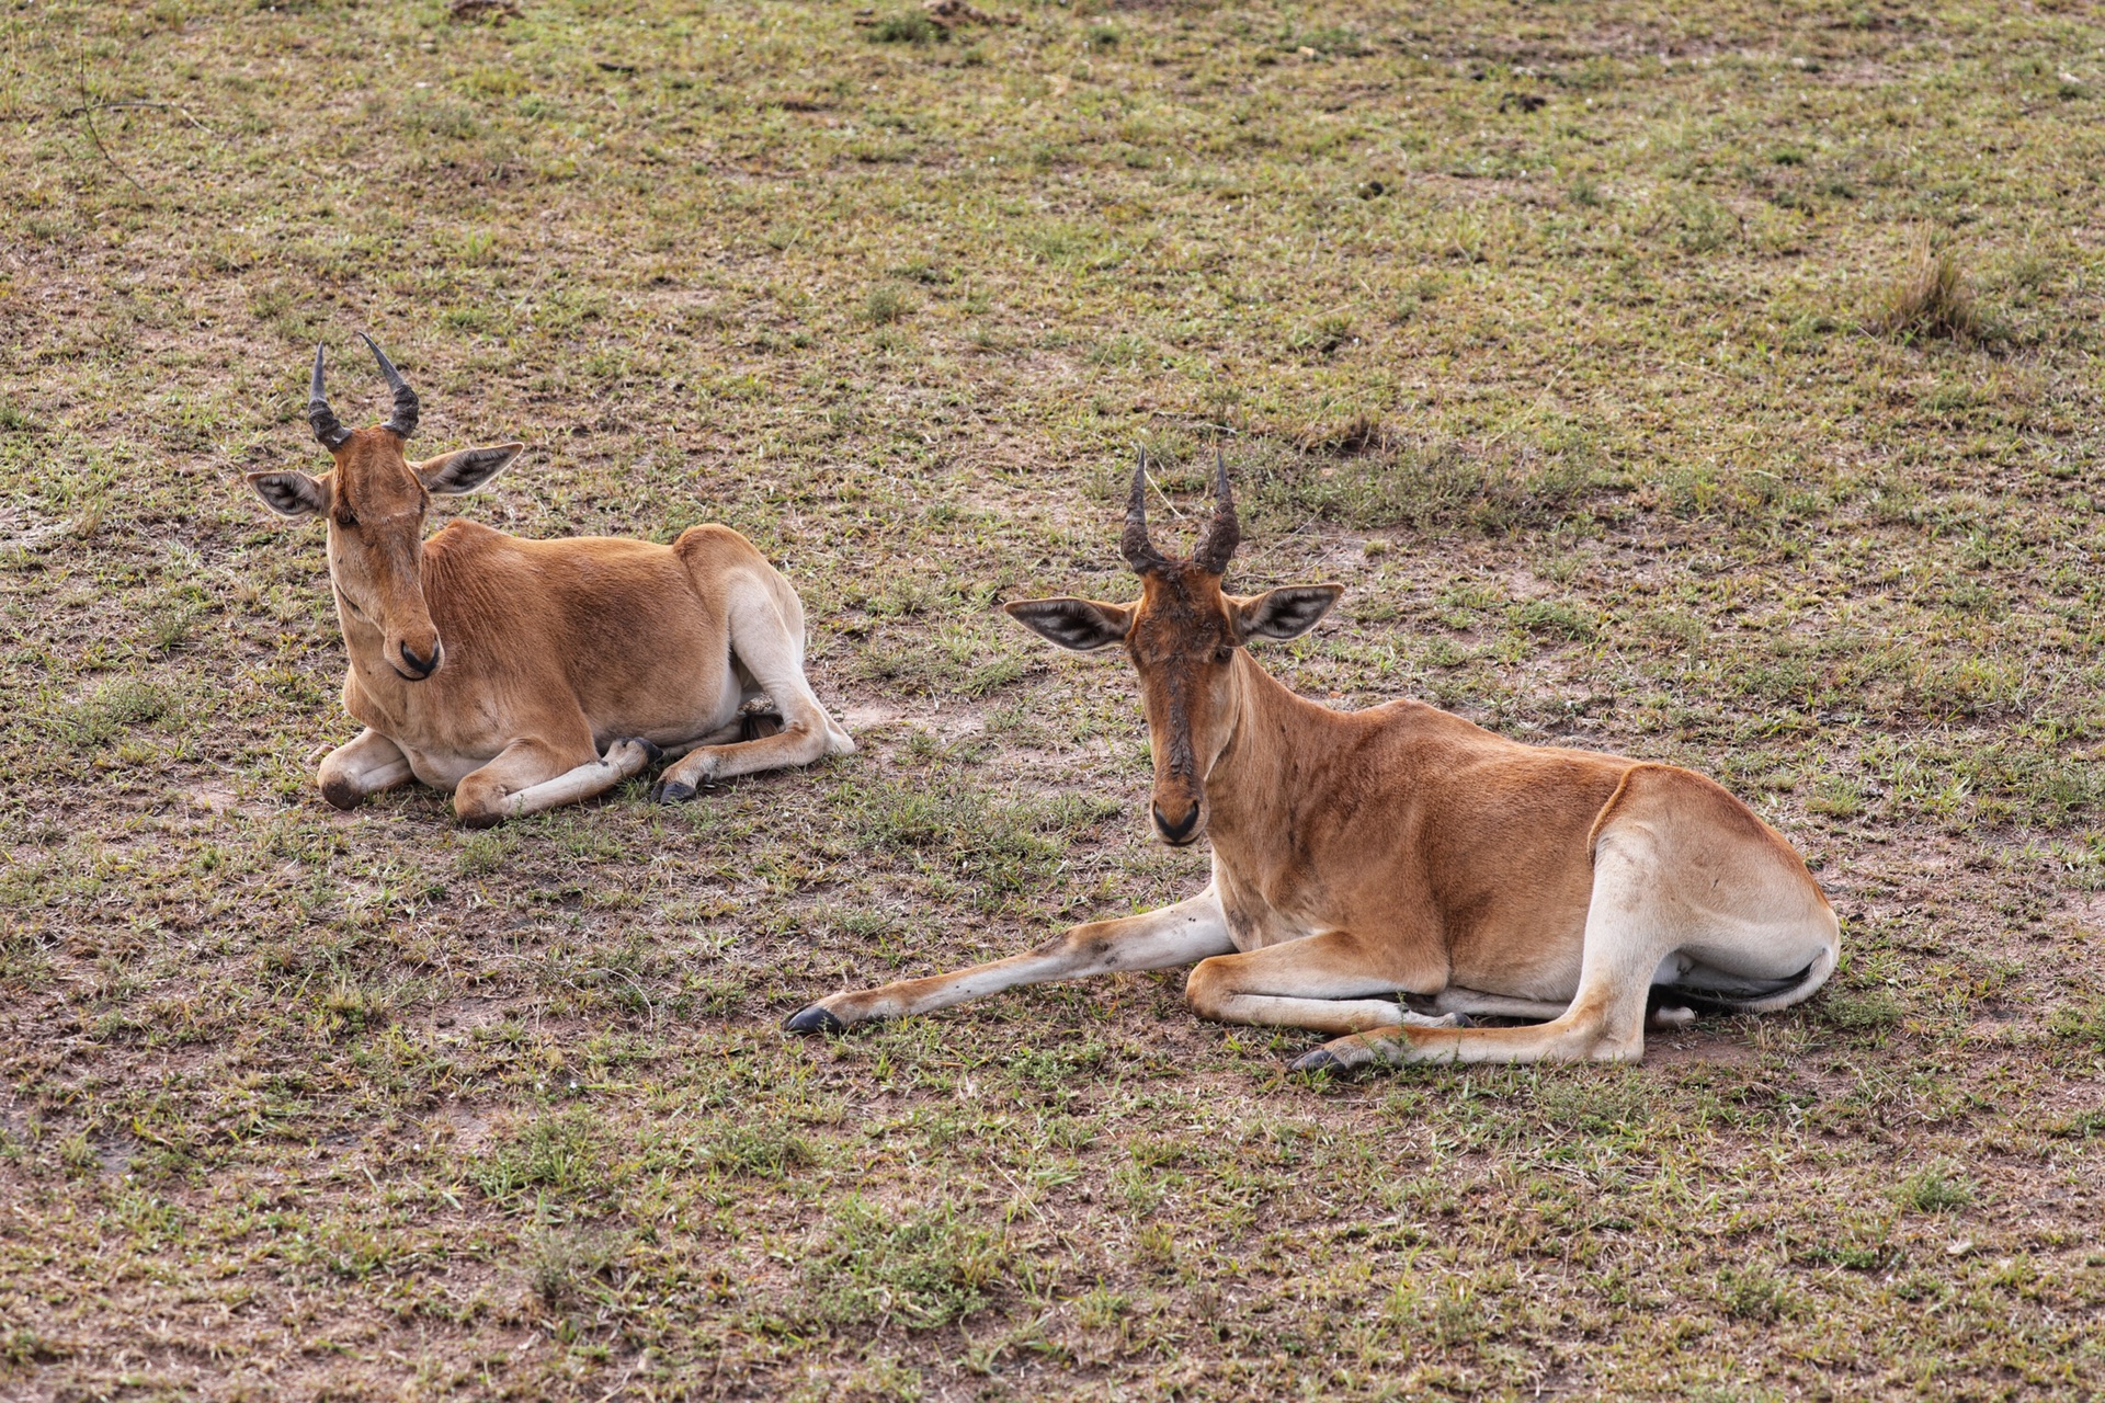
<path fill-rule="evenodd" d="M 328 522 L 343 709 L 366 730 L 322 761 L 322 797 L 352 808 L 415 776 L 486 827 L 587 799 L 661 755 L 684 755 L 653 791 L 674 801 L 855 749 L 804 682 L 796 591 L 728 526 L 650 545 L 522 541 L 457 520 L 425 541 L 432 494 L 486 486 L 524 444 L 410 463 L 417 391 L 364 341 L 394 391 L 387 423 L 337 423 L 316 347 L 307 421 L 335 467 L 248 473 L 274 511 Z M 741 717 L 762 694 L 775 734 Z"/>

